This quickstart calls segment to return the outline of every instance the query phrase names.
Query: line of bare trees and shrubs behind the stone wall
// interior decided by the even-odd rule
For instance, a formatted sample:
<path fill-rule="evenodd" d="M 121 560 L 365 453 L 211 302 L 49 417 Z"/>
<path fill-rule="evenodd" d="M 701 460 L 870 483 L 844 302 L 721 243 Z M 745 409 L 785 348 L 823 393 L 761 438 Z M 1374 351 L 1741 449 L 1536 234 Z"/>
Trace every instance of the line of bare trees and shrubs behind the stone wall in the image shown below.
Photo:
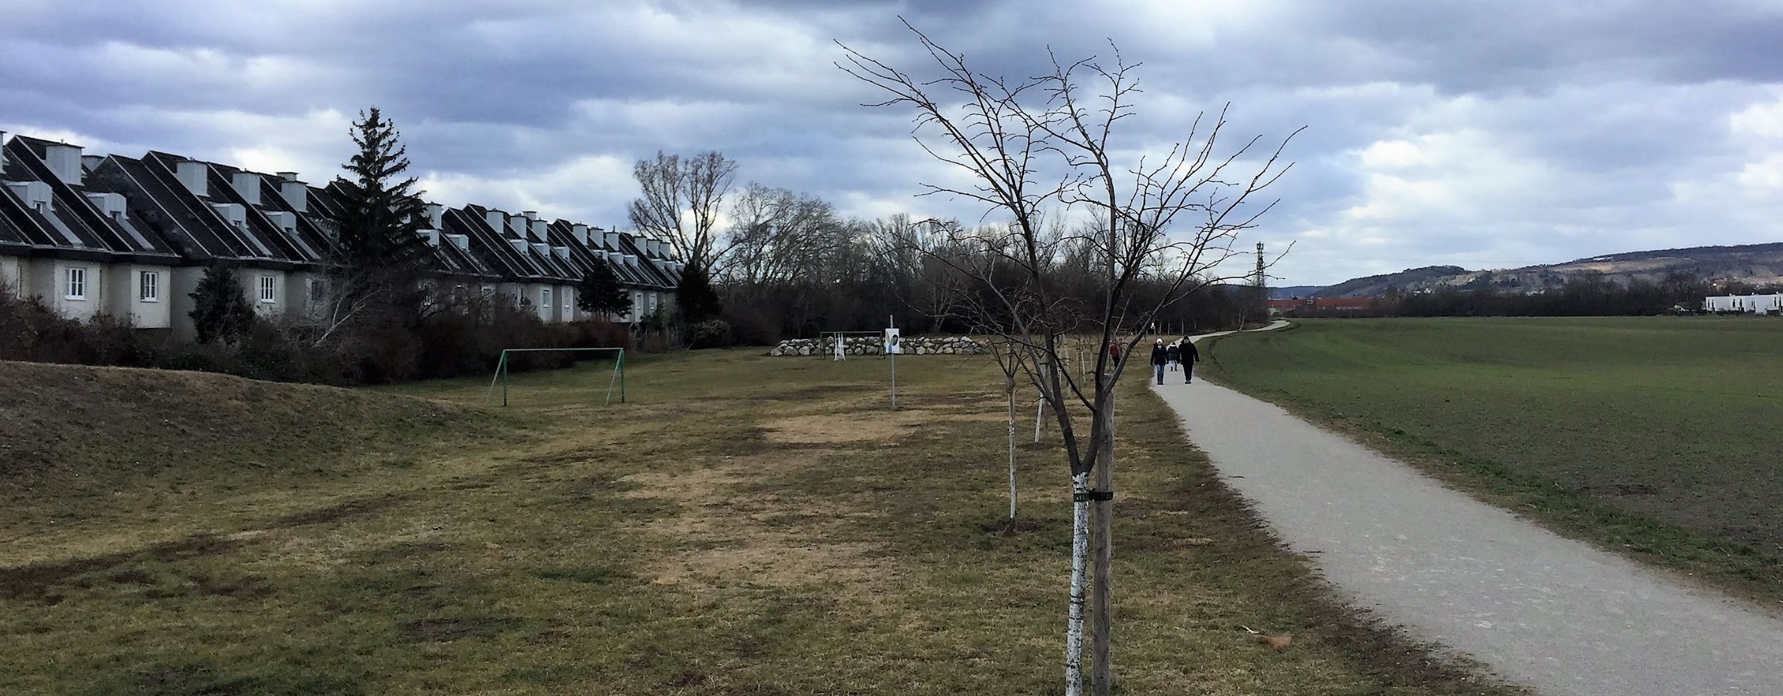
<path fill-rule="evenodd" d="M 631 223 L 669 239 L 688 263 L 672 324 L 688 329 L 695 347 L 711 345 L 715 333 L 768 345 L 877 331 L 888 320 L 908 333 L 977 333 L 986 324 L 979 310 L 1018 285 L 1013 269 L 990 283 L 965 271 L 982 255 L 982 240 L 1009 235 L 1007 224 L 849 217 L 808 192 L 756 182 L 733 187 L 738 169 L 719 151 L 658 153 L 635 167 L 642 198 L 629 205 Z M 1052 224 L 1050 233 L 1054 253 L 1039 260 L 1039 272 L 1059 288 L 1056 301 L 1080 308 L 1102 301 L 1107 278 L 1091 226 Z M 1129 292 L 1136 306 L 1164 306 L 1148 317 L 1157 331 L 1225 329 L 1266 313 L 1261 292 L 1243 285 L 1209 283 L 1207 292 L 1175 297 L 1180 292 L 1164 278 L 1139 276 Z M 713 320 L 722 326 L 711 328 Z M 708 329 L 695 331 L 701 324 Z"/>

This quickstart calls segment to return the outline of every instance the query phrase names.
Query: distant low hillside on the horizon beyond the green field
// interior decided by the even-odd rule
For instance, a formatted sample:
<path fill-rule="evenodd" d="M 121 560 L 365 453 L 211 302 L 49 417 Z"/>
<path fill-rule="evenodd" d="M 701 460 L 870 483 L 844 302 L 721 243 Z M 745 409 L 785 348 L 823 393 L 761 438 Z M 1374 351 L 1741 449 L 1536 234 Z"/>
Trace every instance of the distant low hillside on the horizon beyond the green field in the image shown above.
<path fill-rule="evenodd" d="M 1783 242 L 1744 246 L 1697 246 L 1685 249 L 1628 251 L 1605 256 L 1578 258 L 1565 263 L 1528 265 L 1501 271 L 1467 271 L 1458 265 L 1430 265 L 1401 272 L 1355 278 L 1328 285 L 1319 297 L 1369 297 L 1387 292 L 1432 290 L 1441 287 L 1485 287 L 1501 290 L 1548 290 L 1569 278 L 1587 272 L 1601 274 L 1612 283 L 1633 279 L 1662 281 L 1669 274 L 1685 274 L 1710 281 L 1742 281 L 1753 285 L 1783 281 Z"/>

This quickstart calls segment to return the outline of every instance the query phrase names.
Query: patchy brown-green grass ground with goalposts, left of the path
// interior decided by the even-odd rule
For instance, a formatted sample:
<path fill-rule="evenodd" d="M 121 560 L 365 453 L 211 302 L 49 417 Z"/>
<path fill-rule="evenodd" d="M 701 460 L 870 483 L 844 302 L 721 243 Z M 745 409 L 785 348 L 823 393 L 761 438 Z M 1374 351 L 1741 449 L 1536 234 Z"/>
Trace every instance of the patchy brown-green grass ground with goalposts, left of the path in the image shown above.
<path fill-rule="evenodd" d="M 0 363 L 0 692 L 1057 692 L 1066 479 L 1023 447 L 1000 534 L 988 360 L 902 360 L 897 413 L 879 360 L 638 360 L 613 408 L 604 367 L 492 413 Z M 1500 692 L 1330 603 L 1148 392 L 1122 422 L 1123 692 Z"/>

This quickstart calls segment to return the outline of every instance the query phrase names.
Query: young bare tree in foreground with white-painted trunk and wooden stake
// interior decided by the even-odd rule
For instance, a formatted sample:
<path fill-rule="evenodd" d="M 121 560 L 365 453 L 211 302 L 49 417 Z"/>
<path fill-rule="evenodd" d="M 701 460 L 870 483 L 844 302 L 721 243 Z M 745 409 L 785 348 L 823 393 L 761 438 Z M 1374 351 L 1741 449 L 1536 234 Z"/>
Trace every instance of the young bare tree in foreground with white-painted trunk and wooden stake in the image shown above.
<path fill-rule="evenodd" d="M 909 23 L 906 23 L 909 27 Z M 1057 420 L 1072 472 L 1072 582 L 1066 618 L 1066 685 L 1082 689 L 1084 580 L 1089 550 L 1089 502 L 1095 502 L 1095 635 L 1091 687 L 1107 694 L 1111 669 L 1111 466 L 1114 388 L 1145 328 L 1171 304 L 1212 283 L 1243 278 L 1228 269 L 1237 237 L 1255 228 L 1275 201 L 1261 192 L 1291 166 L 1278 164 L 1287 139 L 1257 157 L 1252 137 L 1220 153 L 1225 112 L 1211 126 L 1196 119 L 1182 141 L 1152 157 L 1123 157 L 1118 125 L 1132 114 L 1136 64 L 1088 57 L 1050 66 L 1034 78 L 977 73 L 909 27 L 938 75 L 913 77 L 849 46 L 838 68 L 886 94 L 872 107 L 915 110 L 915 139 L 972 185 L 922 183 L 924 194 L 982 203 L 1007 221 L 957 240 L 970 255 L 950 258 L 974 283 L 970 312 L 1020 365 Z M 1298 130 L 1296 130 L 1298 134 Z M 1073 233 L 1048 235 L 1043 210 L 1063 206 L 1082 217 Z M 957 230 L 956 230 L 957 231 Z M 1072 246 L 1088 246 L 1100 262 L 1100 303 L 1068 301 L 1056 271 Z M 1161 288 L 1138 299 L 1139 285 Z M 1066 365 L 1064 344 L 1079 331 L 1095 336 L 1095 370 L 1086 379 Z M 1088 383 L 1086 383 L 1088 381 Z M 1088 438 L 1073 413 L 1091 417 Z M 1089 477 L 1097 484 L 1091 488 Z"/>

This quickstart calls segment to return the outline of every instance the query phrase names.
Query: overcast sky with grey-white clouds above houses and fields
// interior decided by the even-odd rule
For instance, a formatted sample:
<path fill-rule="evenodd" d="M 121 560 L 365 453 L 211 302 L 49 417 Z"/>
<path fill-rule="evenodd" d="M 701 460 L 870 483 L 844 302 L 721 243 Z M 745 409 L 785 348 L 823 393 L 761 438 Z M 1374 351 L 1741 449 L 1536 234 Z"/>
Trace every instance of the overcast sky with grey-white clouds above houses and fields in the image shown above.
<path fill-rule="evenodd" d="M 1307 126 L 1275 285 L 1783 240 L 1779 0 L 5 0 L 0 128 L 325 182 L 378 105 L 448 205 L 622 224 L 637 158 L 720 150 L 850 215 L 977 221 L 913 198 L 945 167 L 833 66 L 933 75 L 900 14 L 1011 77 L 1113 39 L 1136 151 L 1227 101 L 1232 135 Z"/>

